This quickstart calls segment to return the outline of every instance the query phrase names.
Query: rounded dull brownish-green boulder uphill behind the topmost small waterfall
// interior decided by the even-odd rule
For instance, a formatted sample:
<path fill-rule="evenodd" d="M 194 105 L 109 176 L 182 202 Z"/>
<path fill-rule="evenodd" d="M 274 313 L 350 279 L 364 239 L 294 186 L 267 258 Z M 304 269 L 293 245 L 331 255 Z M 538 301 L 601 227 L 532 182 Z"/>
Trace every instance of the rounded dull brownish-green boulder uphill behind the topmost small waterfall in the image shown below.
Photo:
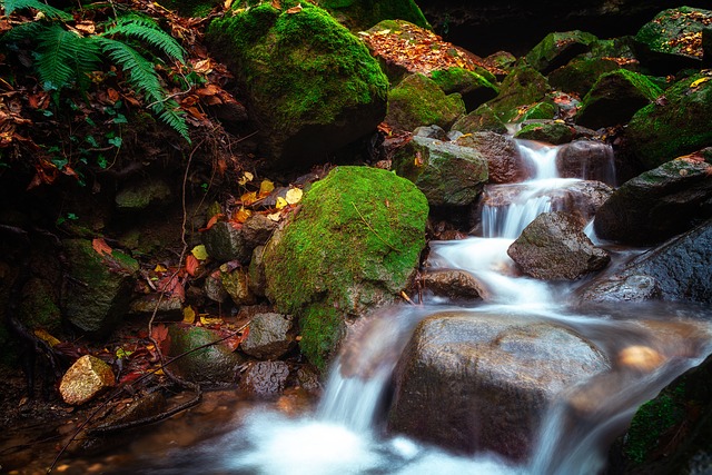
<path fill-rule="evenodd" d="M 497 118 L 506 123 L 521 119 L 520 109 L 541 102 L 550 90 L 544 76 L 532 67 L 520 66 L 502 81 L 500 95 L 481 107 L 492 109 Z M 475 110 L 475 113 L 477 112 L 479 108 Z"/>

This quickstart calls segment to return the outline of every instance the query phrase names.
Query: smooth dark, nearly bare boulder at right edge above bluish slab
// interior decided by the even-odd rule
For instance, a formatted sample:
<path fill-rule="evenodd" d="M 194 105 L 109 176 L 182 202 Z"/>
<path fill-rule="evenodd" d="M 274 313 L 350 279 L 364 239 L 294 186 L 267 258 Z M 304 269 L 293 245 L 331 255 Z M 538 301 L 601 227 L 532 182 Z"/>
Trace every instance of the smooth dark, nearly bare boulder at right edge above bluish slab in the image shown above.
<path fill-rule="evenodd" d="M 702 157 L 681 157 L 623 184 L 596 212 L 596 236 L 653 245 L 709 218 L 712 160 Z"/>

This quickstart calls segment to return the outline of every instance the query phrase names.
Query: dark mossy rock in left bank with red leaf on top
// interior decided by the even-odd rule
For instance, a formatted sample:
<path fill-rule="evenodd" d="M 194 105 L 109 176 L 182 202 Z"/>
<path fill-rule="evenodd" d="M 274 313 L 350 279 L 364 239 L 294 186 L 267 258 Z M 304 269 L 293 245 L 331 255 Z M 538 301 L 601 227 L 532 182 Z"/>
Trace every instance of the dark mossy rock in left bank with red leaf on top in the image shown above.
<path fill-rule="evenodd" d="M 90 240 L 65 239 L 69 275 L 65 317 L 96 337 L 107 336 L 129 311 L 138 263 L 119 250 L 100 255 Z"/>

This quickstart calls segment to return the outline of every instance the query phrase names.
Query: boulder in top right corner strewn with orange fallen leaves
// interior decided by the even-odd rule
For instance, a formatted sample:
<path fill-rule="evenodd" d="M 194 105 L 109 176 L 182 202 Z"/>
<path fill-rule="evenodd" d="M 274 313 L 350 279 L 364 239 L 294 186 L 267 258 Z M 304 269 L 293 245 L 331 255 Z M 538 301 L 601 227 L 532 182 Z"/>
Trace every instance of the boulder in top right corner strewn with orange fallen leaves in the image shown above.
<path fill-rule="evenodd" d="M 702 62 L 702 30 L 712 23 L 712 10 L 690 7 L 660 12 L 635 34 L 641 63 L 657 75 L 670 75 Z"/>

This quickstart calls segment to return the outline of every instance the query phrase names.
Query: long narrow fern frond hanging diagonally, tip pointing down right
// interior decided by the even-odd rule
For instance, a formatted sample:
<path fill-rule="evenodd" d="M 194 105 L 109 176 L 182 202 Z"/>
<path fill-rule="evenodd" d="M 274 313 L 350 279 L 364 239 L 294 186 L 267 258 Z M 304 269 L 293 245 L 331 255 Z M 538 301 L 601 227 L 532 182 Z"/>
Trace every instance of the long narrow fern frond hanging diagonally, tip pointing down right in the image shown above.
<path fill-rule="evenodd" d="M 190 141 L 186 120 L 179 112 L 178 105 L 167 100 L 154 63 L 121 41 L 105 37 L 98 37 L 96 41 L 101 44 L 109 58 L 127 72 L 129 83 L 146 96 L 159 119 Z"/>

